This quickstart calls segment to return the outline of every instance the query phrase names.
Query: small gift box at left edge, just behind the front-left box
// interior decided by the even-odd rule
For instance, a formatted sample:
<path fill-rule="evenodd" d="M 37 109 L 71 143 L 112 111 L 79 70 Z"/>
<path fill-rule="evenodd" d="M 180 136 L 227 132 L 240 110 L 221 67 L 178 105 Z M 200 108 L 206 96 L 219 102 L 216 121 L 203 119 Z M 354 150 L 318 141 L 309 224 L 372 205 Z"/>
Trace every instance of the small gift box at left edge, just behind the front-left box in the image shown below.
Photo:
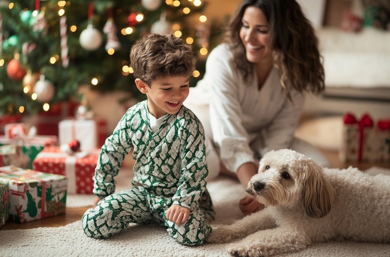
<path fill-rule="evenodd" d="M 28 168 L 30 158 L 25 156 L 18 145 L 7 144 L 0 146 L 0 167 L 15 165 L 21 168 Z"/>

